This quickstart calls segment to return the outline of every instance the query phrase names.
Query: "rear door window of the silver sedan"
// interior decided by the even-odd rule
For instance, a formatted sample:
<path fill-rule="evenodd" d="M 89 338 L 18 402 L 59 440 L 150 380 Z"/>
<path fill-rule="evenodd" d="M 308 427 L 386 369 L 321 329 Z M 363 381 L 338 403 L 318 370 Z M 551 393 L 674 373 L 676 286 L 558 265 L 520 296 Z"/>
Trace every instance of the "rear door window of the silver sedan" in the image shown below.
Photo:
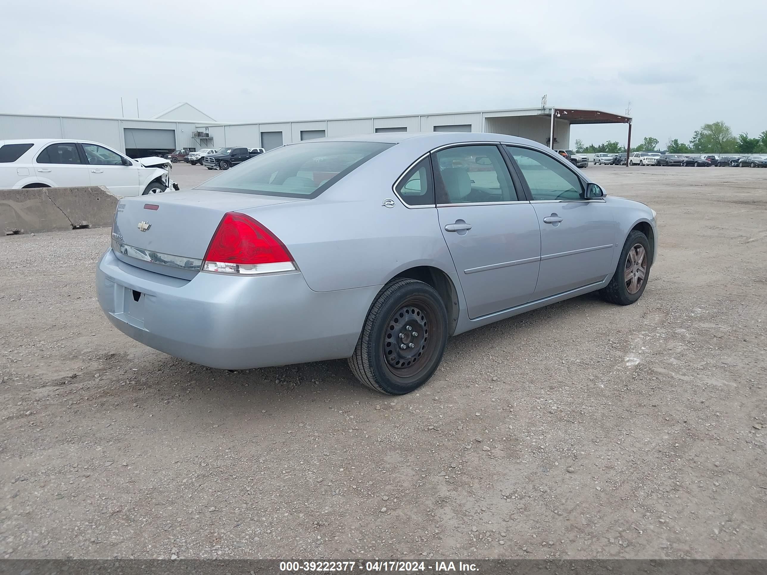
<path fill-rule="evenodd" d="M 512 177 L 496 146 L 456 146 L 433 156 L 436 203 L 517 201 Z"/>

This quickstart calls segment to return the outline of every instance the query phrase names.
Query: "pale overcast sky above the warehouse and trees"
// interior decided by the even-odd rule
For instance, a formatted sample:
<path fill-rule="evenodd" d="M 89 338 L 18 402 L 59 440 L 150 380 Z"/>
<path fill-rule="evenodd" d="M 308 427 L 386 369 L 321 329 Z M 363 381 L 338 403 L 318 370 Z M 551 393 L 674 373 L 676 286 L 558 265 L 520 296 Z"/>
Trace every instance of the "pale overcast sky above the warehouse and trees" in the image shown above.
<path fill-rule="evenodd" d="M 767 2 L 3 2 L 0 112 L 218 121 L 584 107 L 767 130 Z M 574 126 L 571 143 L 625 125 Z"/>

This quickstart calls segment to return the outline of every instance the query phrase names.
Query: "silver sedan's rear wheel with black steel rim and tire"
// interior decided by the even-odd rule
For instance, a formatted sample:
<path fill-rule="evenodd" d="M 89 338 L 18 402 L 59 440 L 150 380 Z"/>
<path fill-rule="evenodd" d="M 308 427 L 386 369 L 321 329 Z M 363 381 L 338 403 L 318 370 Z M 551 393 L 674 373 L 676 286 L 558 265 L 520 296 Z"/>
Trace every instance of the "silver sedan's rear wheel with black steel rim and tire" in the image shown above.
<path fill-rule="evenodd" d="M 390 395 L 418 389 L 442 360 L 447 311 L 423 281 L 392 281 L 367 312 L 349 367 L 361 383 Z"/>

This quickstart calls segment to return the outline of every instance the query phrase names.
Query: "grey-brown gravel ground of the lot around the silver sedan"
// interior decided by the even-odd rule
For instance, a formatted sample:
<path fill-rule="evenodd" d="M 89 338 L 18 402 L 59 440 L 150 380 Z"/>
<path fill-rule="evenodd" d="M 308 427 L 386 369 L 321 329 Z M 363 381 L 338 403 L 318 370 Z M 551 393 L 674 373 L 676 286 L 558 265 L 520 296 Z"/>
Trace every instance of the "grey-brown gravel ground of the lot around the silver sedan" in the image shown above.
<path fill-rule="evenodd" d="M 0 557 L 767 557 L 767 170 L 588 174 L 659 213 L 644 297 L 455 337 L 397 399 L 133 342 L 107 229 L 0 238 Z"/>

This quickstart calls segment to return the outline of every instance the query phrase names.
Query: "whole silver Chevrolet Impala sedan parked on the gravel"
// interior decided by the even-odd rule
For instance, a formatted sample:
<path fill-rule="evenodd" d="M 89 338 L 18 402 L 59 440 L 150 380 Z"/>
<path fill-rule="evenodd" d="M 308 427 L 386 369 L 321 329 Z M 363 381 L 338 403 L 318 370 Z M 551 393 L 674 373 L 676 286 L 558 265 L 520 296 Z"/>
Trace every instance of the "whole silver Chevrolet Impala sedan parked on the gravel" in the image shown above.
<path fill-rule="evenodd" d="M 97 291 L 117 329 L 229 370 L 348 358 L 384 393 L 447 337 L 644 292 L 655 212 L 530 140 L 387 133 L 291 144 L 189 192 L 121 199 Z"/>

